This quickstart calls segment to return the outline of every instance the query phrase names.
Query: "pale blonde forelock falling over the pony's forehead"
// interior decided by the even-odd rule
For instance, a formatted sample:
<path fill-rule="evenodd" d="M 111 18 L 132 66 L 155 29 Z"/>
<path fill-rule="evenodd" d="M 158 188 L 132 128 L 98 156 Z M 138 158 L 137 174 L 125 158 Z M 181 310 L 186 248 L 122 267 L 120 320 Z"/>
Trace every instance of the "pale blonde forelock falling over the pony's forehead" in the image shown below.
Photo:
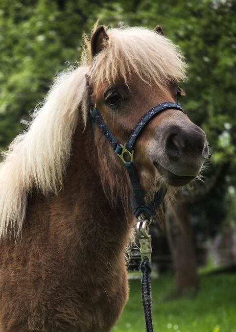
<path fill-rule="evenodd" d="M 164 89 L 170 80 L 186 78 L 186 63 L 178 46 L 166 37 L 144 28 L 108 29 L 107 46 L 92 61 L 90 80 L 95 89 L 102 82 L 133 75 Z"/>

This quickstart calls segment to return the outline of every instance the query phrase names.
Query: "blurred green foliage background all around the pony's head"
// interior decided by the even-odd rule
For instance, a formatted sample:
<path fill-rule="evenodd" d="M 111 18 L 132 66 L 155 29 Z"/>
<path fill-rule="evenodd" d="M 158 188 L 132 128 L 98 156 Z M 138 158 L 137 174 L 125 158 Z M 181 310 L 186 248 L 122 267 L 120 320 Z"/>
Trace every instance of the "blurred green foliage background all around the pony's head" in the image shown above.
<path fill-rule="evenodd" d="M 215 165 L 229 161 L 224 189 L 235 220 L 236 3 L 234 0 L 0 0 L 0 147 L 24 129 L 35 105 L 67 62 L 79 60 L 82 34 L 100 23 L 117 27 L 157 24 L 186 57 L 188 115 L 201 125 Z M 215 199 L 215 206 L 222 200 Z M 214 209 L 214 204 L 209 207 Z M 204 218 L 211 218 L 205 216 Z M 222 216 L 224 218 L 224 216 Z"/>

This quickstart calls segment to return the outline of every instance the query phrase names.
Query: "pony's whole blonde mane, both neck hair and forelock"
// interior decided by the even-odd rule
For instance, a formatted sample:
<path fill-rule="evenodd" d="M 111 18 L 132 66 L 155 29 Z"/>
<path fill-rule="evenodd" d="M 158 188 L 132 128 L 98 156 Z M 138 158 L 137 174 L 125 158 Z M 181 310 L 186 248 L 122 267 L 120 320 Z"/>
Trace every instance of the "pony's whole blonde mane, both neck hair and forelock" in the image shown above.
<path fill-rule="evenodd" d="M 27 197 L 34 187 L 43 195 L 63 186 L 72 138 L 81 116 L 86 124 L 86 75 L 96 89 L 117 77 L 129 84 L 135 73 L 147 84 L 164 88 L 185 78 L 185 63 L 167 38 L 143 28 L 109 29 L 109 39 L 91 65 L 87 42 L 81 66 L 59 75 L 44 103 L 36 107 L 28 130 L 11 143 L 0 164 L 0 238 L 20 234 Z M 81 115 L 80 115 L 81 114 Z"/>

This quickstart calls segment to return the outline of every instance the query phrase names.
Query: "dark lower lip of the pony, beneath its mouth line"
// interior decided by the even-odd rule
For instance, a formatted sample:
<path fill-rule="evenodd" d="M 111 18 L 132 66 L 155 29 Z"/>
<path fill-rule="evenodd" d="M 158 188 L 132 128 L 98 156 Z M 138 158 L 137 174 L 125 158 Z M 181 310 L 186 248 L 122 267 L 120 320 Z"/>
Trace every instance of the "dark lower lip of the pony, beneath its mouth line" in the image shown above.
<path fill-rule="evenodd" d="M 157 162 L 153 162 L 155 168 L 158 170 L 158 172 L 164 177 L 164 179 L 167 181 L 167 183 L 173 187 L 181 187 L 186 185 L 187 183 L 190 183 L 193 179 L 195 179 L 196 176 L 187 176 L 187 175 L 176 175 L 167 169 L 163 168 L 160 164 Z"/>

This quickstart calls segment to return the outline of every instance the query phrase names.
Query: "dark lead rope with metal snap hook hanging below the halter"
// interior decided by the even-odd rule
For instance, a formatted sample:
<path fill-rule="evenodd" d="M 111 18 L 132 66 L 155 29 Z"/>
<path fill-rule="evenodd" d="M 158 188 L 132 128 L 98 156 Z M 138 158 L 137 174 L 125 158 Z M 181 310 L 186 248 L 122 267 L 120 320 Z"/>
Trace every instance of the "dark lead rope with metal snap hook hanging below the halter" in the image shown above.
<path fill-rule="evenodd" d="M 152 218 L 148 221 L 146 218 L 140 216 L 138 218 L 136 233 L 139 240 L 139 250 L 141 254 L 140 271 L 141 277 L 141 293 L 144 308 L 145 327 L 146 332 L 153 332 L 152 325 L 152 290 L 151 290 L 151 253 L 152 253 L 152 239 L 149 234 L 149 225 Z"/>

